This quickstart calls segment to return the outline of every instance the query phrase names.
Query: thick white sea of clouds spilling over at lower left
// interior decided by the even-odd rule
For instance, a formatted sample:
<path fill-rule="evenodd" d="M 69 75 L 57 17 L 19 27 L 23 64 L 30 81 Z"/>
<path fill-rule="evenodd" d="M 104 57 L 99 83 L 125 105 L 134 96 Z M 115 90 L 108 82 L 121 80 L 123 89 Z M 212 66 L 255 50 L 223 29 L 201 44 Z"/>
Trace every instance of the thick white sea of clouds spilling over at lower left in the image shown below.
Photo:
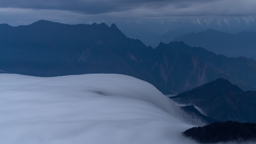
<path fill-rule="evenodd" d="M 1 144 L 195 144 L 179 106 L 120 74 L 0 74 Z"/>

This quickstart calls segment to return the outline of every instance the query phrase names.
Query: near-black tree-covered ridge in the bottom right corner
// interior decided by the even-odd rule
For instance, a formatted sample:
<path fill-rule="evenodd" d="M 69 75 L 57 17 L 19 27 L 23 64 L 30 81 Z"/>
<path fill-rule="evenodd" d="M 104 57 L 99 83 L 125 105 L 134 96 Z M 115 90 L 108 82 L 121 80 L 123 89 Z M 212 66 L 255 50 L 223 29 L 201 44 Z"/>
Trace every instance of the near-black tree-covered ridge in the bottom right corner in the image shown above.
<path fill-rule="evenodd" d="M 183 135 L 199 143 L 218 143 L 236 141 L 256 141 L 256 124 L 239 122 L 215 122 L 206 126 L 193 127 L 183 132 Z"/>

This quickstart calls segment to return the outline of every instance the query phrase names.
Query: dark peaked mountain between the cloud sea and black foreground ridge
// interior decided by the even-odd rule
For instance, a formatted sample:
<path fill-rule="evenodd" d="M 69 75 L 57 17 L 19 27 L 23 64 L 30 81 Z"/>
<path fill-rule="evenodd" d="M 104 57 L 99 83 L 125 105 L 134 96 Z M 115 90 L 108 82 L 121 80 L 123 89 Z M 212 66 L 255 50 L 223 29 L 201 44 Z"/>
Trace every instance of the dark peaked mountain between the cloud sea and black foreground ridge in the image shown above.
<path fill-rule="evenodd" d="M 225 79 L 217 79 L 170 98 L 180 104 L 196 105 L 216 120 L 256 122 L 256 92 L 244 92 Z"/>

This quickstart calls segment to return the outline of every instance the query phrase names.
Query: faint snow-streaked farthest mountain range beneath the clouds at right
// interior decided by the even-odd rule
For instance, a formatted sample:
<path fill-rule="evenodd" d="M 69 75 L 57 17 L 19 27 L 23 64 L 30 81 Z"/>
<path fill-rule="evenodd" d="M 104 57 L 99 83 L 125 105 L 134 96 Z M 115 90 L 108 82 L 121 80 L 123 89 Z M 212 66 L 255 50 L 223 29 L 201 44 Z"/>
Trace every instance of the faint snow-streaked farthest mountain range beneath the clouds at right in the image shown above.
<path fill-rule="evenodd" d="M 129 38 L 140 39 L 145 45 L 156 47 L 160 42 L 169 43 L 176 37 L 214 29 L 226 33 L 256 31 L 254 17 L 228 18 L 173 18 L 111 21 Z"/>

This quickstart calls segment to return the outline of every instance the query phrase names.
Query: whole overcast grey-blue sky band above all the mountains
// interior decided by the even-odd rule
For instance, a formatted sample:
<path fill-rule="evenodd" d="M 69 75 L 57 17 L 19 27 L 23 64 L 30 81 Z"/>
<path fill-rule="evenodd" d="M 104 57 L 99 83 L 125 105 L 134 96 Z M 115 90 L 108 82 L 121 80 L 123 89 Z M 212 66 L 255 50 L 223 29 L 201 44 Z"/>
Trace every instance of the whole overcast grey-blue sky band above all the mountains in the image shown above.
<path fill-rule="evenodd" d="M 1 0 L 0 23 L 255 16 L 256 0 Z"/>

